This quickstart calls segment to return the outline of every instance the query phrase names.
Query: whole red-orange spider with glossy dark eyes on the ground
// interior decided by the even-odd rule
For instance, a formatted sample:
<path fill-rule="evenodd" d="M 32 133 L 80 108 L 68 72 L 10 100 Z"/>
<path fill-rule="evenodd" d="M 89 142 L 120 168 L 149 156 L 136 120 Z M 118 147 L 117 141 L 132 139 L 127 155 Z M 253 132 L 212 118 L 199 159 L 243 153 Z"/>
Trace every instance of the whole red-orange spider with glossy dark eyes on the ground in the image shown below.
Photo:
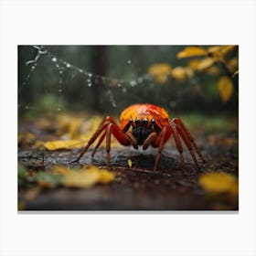
<path fill-rule="evenodd" d="M 178 118 L 169 119 L 168 113 L 161 107 L 153 104 L 135 104 L 126 108 L 120 115 L 120 127 L 115 123 L 112 117 L 107 116 L 99 125 L 97 131 L 91 136 L 88 144 L 80 152 L 78 158 L 74 161 L 80 160 L 81 156 L 86 153 L 88 148 L 101 135 L 96 144 L 92 155 L 93 156 L 98 147 L 101 145 L 103 139 L 106 137 L 106 152 L 107 164 L 111 167 L 111 136 L 112 134 L 120 144 L 125 146 L 133 145 L 137 149 L 140 145 L 143 149 L 147 149 L 149 145 L 158 147 L 158 154 L 155 157 L 154 171 L 161 156 L 164 144 L 169 140 L 171 135 L 174 135 L 176 147 L 180 154 L 181 165 L 184 168 L 184 156 L 181 139 L 187 145 L 190 155 L 198 167 L 197 155 L 205 163 L 203 156 L 200 154 L 197 144 L 195 144 L 192 135 L 187 131 L 184 123 Z"/>

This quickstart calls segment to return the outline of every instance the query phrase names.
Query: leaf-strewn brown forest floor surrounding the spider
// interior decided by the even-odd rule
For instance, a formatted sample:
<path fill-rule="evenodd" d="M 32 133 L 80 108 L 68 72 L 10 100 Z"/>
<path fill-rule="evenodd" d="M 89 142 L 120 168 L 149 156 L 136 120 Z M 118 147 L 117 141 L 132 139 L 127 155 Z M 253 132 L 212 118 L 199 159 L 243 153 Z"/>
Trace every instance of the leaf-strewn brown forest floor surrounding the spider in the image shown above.
<path fill-rule="evenodd" d="M 59 181 L 59 174 L 56 175 L 55 172 L 56 166 L 77 172 L 90 165 L 106 169 L 106 152 L 103 145 L 91 158 L 91 147 L 80 162 L 71 163 L 80 153 L 81 146 L 68 149 L 59 146 L 48 150 L 45 146 L 48 142 L 68 141 L 89 130 L 87 137 L 90 137 L 101 119 L 98 117 L 97 122 L 84 122 L 80 117 L 74 120 L 70 117 L 71 114 L 67 116 L 65 121 L 58 120 L 57 117 L 19 120 L 20 211 L 239 209 L 238 188 L 234 189 L 233 185 L 235 183 L 238 186 L 239 176 L 238 123 L 235 118 L 214 118 L 198 114 L 180 117 L 187 123 L 206 159 L 206 164 L 200 163 L 199 169 L 194 165 L 187 149 L 186 168 L 181 168 L 173 139 L 165 144 L 155 172 L 153 165 L 157 149 L 142 152 L 114 142 L 110 170 L 113 178 L 105 182 L 92 182 L 88 186 L 84 186 L 84 183 L 80 186 L 79 182 L 72 186 Z M 65 170 L 61 178 L 65 178 Z M 224 177 L 219 180 L 219 176 L 214 176 L 223 173 L 227 179 Z M 213 176 L 205 178 L 206 174 Z"/>

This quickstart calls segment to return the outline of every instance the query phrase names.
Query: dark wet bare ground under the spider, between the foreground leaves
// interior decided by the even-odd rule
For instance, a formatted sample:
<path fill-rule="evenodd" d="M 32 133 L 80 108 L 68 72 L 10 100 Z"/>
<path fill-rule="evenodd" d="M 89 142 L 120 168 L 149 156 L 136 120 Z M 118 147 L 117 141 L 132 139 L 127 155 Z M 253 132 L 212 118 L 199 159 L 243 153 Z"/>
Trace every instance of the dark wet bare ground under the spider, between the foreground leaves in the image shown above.
<path fill-rule="evenodd" d="M 186 169 L 182 170 L 176 148 L 165 145 L 156 172 L 153 172 L 155 149 L 138 152 L 127 147 L 112 148 L 112 183 L 91 188 L 44 188 L 35 197 L 27 197 L 20 187 L 19 202 L 24 210 L 238 210 L 238 197 L 211 195 L 198 185 L 198 176 L 208 171 L 225 171 L 238 176 L 238 145 L 208 145 L 199 141 L 207 160 L 198 169 L 185 152 Z M 71 163 L 79 149 L 48 152 L 19 148 L 18 161 L 28 169 L 48 171 L 53 165 L 80 167 L 106 166 L 104 148 L 91 158 L 91 150 L 79 163 Z M 132 167 L 127 164 L 132 160 Z"/>

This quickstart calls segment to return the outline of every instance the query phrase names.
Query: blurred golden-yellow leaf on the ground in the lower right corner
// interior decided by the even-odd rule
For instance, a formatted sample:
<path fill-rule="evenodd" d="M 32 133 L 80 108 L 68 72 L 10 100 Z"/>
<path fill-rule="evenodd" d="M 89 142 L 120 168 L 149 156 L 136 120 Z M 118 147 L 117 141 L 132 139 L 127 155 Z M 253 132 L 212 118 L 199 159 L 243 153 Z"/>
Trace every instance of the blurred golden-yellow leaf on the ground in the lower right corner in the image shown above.
<path fill-rule="evenodd" d="M 210 193 L 229 193 L 237 195 L 239 182 L 236 176 L 225 172 L 210 172 L 199 176 L 199 185 Z"/>

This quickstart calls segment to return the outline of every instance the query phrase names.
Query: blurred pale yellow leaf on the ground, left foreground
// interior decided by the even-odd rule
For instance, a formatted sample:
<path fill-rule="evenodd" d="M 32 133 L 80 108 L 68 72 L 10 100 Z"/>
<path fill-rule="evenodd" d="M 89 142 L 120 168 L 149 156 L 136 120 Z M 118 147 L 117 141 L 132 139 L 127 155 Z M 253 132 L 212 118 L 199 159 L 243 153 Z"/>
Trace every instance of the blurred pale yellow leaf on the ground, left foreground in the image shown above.
<path fill-rule="evenodd" d="M 107 184 L 114 179 L 114 174 L 105 169 L 99 169 L 91 165 L 80 170 L 69 170 L 62 180 L 65 187 L 83 187 L 89 188 L 96 183 Z"/>

